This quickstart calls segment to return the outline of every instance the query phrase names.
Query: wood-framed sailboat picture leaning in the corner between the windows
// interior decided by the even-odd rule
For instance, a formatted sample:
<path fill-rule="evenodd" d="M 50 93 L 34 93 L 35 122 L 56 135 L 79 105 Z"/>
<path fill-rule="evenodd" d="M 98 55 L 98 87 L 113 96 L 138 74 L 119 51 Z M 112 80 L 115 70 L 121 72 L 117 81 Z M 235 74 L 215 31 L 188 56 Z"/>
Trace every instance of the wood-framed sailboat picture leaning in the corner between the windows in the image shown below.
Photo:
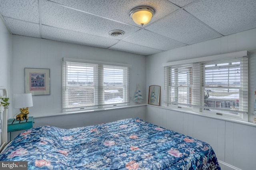
<path fill-rule="evenodd" d="M 148 104 L 151 105 L 160 105 L 160 91 L 161 86 L 152 85 L 149 86 L 149 92 L 148 92 Z"/>

